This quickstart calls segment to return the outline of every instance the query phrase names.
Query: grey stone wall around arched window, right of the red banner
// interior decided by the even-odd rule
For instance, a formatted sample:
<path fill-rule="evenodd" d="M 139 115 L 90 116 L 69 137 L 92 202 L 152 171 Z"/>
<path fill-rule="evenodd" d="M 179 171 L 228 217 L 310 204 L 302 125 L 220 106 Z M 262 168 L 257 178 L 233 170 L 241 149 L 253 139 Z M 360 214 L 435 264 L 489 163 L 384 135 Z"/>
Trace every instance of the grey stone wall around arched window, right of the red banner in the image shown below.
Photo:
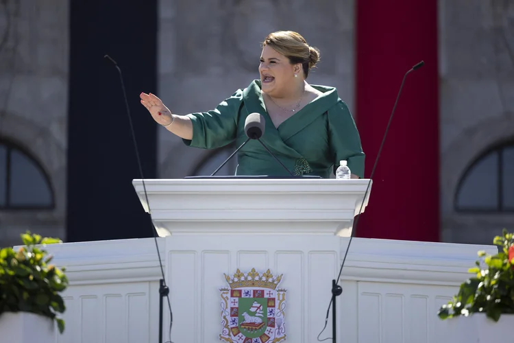
<path fill-rule="evenodd" d="M 514 213 L 456 213 L 454 196 L 482 152 L 514 139 L 514 3 L 439 0 L 439 49 L 442 239 L 490 244 Z"/>

